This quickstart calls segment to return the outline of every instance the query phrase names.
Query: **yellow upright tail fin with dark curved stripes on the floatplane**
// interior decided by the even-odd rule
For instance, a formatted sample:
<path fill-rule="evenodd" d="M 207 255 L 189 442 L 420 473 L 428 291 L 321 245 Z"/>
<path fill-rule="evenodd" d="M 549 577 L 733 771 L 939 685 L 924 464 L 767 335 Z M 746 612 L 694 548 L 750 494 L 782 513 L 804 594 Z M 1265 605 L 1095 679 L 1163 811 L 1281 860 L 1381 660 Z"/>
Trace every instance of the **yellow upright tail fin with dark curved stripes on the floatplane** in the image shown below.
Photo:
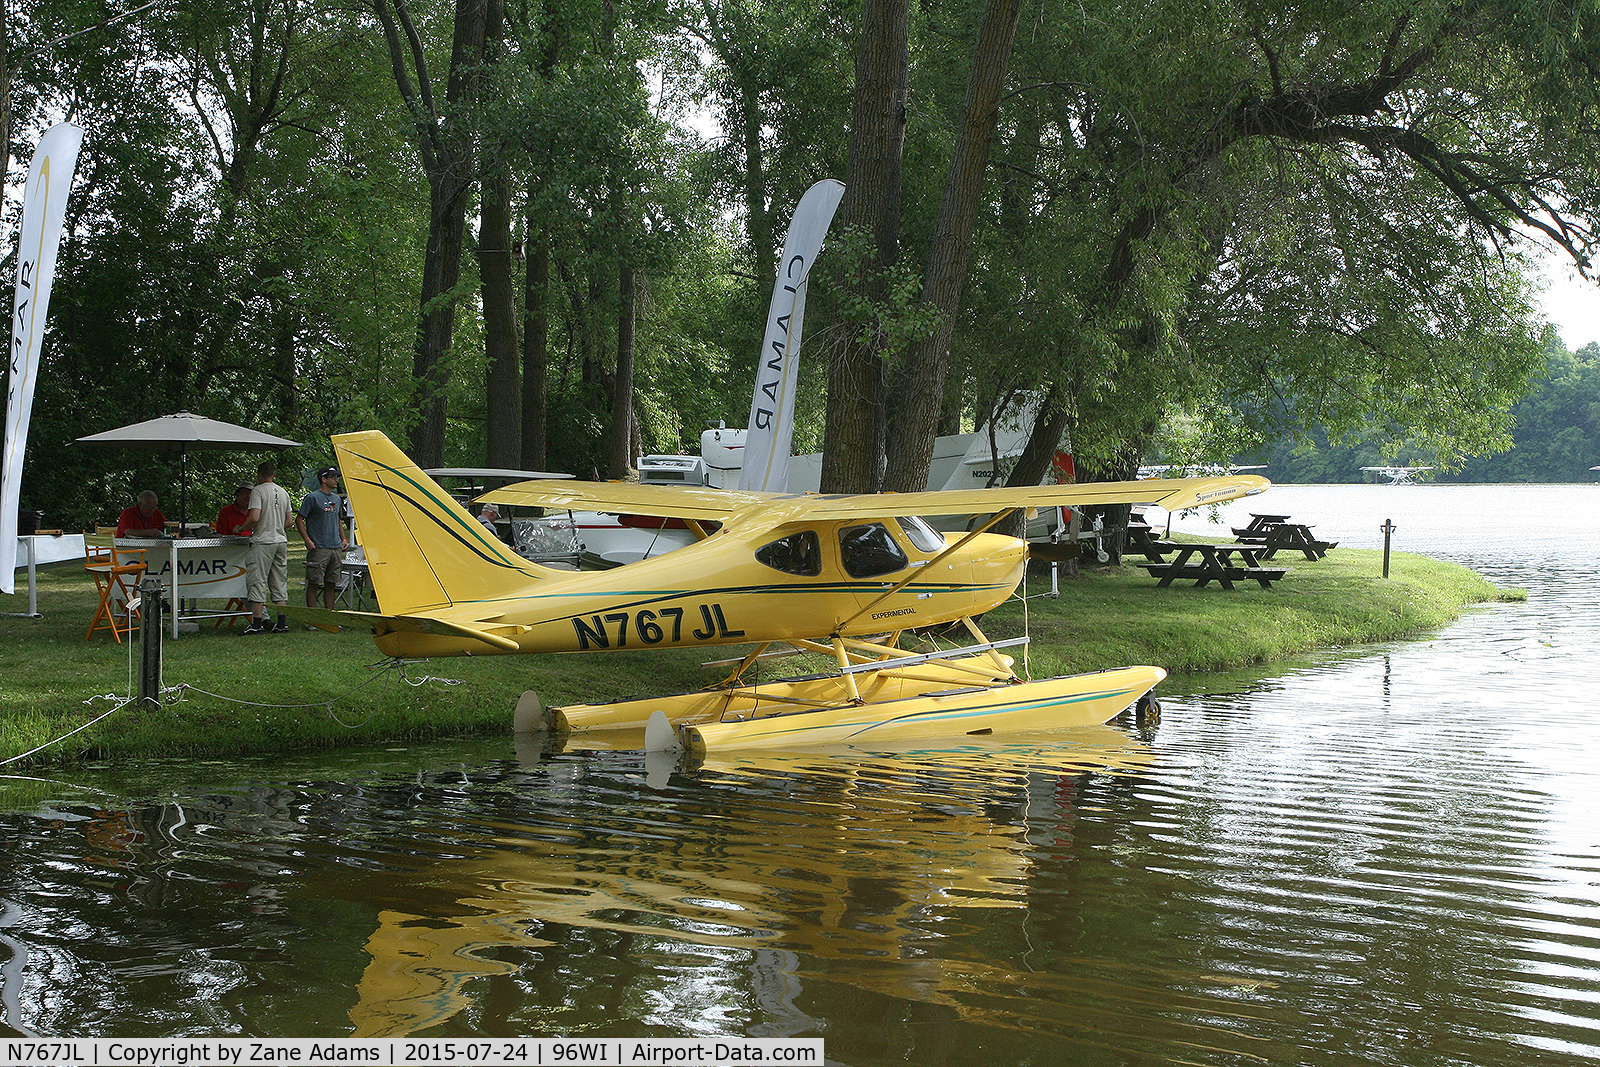
<path fill-rule="evenodd" d="M 331 440 L 384 614 L 493 608 L 555 573 L 512 552 L 379 430 Z"/>

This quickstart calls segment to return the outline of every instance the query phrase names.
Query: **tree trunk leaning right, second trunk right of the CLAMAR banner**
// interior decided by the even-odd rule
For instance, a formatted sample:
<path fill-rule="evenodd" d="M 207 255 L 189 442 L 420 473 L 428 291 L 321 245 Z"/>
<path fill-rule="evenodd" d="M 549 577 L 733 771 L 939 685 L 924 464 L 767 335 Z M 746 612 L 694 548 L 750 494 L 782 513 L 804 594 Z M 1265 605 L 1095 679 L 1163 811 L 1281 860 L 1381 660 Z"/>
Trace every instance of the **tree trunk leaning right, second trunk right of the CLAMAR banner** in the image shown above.
<path fill-rule="evenodd" d="M 1000 93 L 1021 11 L 1021 0 L 990 0 L 978 34 L 962 126 L 950 154 L 922 283 L 922 302 L 938 310 L 938 325 L 928 339 L 912 346 L 891 376 L 888 390 L 888 437 L 894 448 L 885 456 L 883 488 L 893 493 L 917 493 L 928 486 L 933 438 L 944 408 L 944 376 L 950 366 L 950 336 L 962 307 L 962 283 L 978 229 L 984 171 L 989 166 Z"/>

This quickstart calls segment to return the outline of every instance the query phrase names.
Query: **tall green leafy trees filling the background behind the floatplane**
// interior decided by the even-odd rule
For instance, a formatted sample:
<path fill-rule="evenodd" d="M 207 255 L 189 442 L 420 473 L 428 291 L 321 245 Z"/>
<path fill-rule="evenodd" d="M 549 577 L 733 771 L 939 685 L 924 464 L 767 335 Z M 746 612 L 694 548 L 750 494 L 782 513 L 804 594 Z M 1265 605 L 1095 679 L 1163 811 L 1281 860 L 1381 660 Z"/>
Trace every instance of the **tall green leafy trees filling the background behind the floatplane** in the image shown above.
<path fill-rule="evenodd" d="M 915 488 L 934 434 L 1021 389 L 1046 406 L 1016 480 L 1064 442 L 1096 477 L 1352 435 L 1522 477 L 1490 458 L 1530 421 L 1600 462 L 1592 411 L 1534 403 L 1592 360 L 1544 342 L 1525 280 L 1534 242 L 1595 248 L 1592 2 L 5 0 L 0 26 L 8 237 L 37 134 L 88 131 L 22 483 L 51 523 L 174 488 L 70 442 L 181 408 L 307 467 L 366 427 L 581 477 L 693 448 L 747 410 L 776 243 L 827 176 L 795 438 L 827 488 Z M 192 464 L 197 496 L 254 459 Z"/>

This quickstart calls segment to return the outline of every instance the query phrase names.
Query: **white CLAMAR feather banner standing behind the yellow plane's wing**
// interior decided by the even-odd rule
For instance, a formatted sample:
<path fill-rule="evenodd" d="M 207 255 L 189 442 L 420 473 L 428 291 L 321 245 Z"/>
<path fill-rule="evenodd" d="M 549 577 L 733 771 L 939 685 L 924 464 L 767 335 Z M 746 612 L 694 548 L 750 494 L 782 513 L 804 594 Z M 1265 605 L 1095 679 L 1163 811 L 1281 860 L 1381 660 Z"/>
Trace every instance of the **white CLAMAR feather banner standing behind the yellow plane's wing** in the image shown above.
<path fill-rule="evenodd" d="M 795 435 L 795 389 L 800 379 L 800 326 L 805 322 L 805 290 L 811 264 L 822 251 L 822 237 L 845 195 L 832 178 L 806 189 L 795 205 L 778 261 L 773 306 L 766 312 L 766 338 L 755 362 L 755 394 L 744 438 L 741 490 L 782 493 L 789 488 L 789 450 Z"/>

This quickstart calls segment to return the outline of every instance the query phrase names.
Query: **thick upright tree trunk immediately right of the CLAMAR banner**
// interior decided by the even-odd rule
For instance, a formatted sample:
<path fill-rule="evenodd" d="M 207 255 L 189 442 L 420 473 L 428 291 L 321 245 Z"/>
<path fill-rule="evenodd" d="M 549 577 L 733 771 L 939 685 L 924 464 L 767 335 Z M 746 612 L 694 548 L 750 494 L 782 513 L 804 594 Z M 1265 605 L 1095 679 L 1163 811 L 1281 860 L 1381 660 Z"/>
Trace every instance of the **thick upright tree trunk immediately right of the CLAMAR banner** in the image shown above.
<path fill-rule="evenodd" d="M 907 0 L 866 0 L 856 48 L 856 91 L 850 110 L 850 158 L 842 232 L 872 235 L 872 259 L 859 296 L 882 304 L 883 272 L 899 248 L 901 160 L 906 146 Z M 846 323 L 829 354 L 822 491 L 866 493 L 877 475 L 880 346 L 862 338 L 869 323 Z"/>

